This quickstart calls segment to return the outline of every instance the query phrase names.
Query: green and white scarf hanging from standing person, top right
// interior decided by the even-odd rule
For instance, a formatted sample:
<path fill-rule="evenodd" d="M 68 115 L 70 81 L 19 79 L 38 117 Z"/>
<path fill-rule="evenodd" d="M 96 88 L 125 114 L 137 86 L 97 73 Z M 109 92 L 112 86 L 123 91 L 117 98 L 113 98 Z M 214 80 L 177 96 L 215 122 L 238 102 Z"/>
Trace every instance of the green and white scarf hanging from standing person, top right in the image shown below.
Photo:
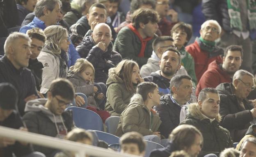
<path fill-rule="evenodd" d="M 230 18 L 230 27 L 242 31 L 242 21 L 240 17 L 240 8 L 238 0 L 227 0 L 228 12 Z M 249 20 L 249 29 L 256 29 L 256 0 L 247 0 L 247 13 Z"/>

